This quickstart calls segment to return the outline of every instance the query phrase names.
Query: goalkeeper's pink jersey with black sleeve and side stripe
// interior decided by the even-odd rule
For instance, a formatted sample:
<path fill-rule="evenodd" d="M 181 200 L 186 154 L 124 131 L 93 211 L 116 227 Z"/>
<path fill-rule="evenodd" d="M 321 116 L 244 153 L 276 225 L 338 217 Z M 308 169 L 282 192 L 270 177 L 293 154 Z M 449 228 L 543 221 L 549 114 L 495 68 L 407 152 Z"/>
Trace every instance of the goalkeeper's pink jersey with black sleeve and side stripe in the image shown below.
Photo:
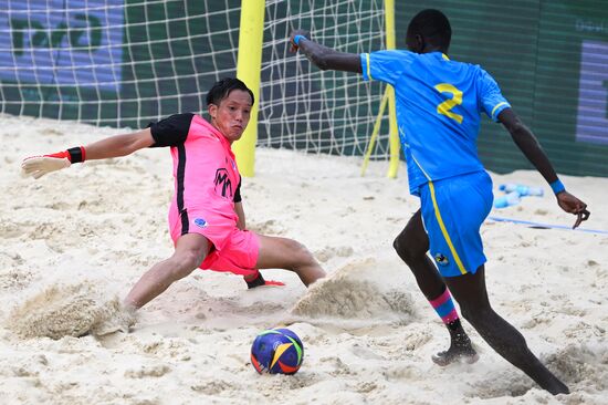
<path fill-rule="evenodd" d="M 175 194 L 171 237 L 201 233 L 221 250 L 235 229 L 240 175 L 228 139 L 195 114 L 177 114 L 150 126 L 154 146 L 170 146 Z"/>

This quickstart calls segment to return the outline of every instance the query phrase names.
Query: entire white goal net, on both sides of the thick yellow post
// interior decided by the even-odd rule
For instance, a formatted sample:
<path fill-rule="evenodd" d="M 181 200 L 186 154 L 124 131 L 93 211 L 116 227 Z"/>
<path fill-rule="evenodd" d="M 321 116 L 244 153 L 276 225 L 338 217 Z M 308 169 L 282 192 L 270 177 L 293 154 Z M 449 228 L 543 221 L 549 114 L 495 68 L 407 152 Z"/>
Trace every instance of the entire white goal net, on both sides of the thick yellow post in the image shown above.
<path fill-rule="evenodd" d="M 289 53 L 293 28 L 360 53 L 385 48 L 382 0 L 266 1 L 259 145 L 360 155 L 382 87 Z M 134 128 L 203 112 L 234 75 L 241 0 L 0 0 L 1 112 Z M 382 134 L 388 133 L 388 120 Z M 387 155 L 380 136 L 373 156 Z"/>

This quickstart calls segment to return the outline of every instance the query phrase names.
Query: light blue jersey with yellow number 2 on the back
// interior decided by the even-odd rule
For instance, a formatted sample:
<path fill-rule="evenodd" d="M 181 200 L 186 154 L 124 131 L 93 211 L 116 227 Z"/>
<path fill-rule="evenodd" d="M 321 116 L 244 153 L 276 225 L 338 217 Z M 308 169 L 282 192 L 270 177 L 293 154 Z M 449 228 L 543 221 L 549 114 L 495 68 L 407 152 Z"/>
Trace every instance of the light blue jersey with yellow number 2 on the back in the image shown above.
<path fill-rule="evenodd" d="M 429 180 L 483 170 L 476 147 L 481 112 L 497 121 L 511 106 L 488 72 L 441 52 L 379 51 L 360 60 L 365 80 L 395 87 L 411 194 L 420 195 Z"/>

